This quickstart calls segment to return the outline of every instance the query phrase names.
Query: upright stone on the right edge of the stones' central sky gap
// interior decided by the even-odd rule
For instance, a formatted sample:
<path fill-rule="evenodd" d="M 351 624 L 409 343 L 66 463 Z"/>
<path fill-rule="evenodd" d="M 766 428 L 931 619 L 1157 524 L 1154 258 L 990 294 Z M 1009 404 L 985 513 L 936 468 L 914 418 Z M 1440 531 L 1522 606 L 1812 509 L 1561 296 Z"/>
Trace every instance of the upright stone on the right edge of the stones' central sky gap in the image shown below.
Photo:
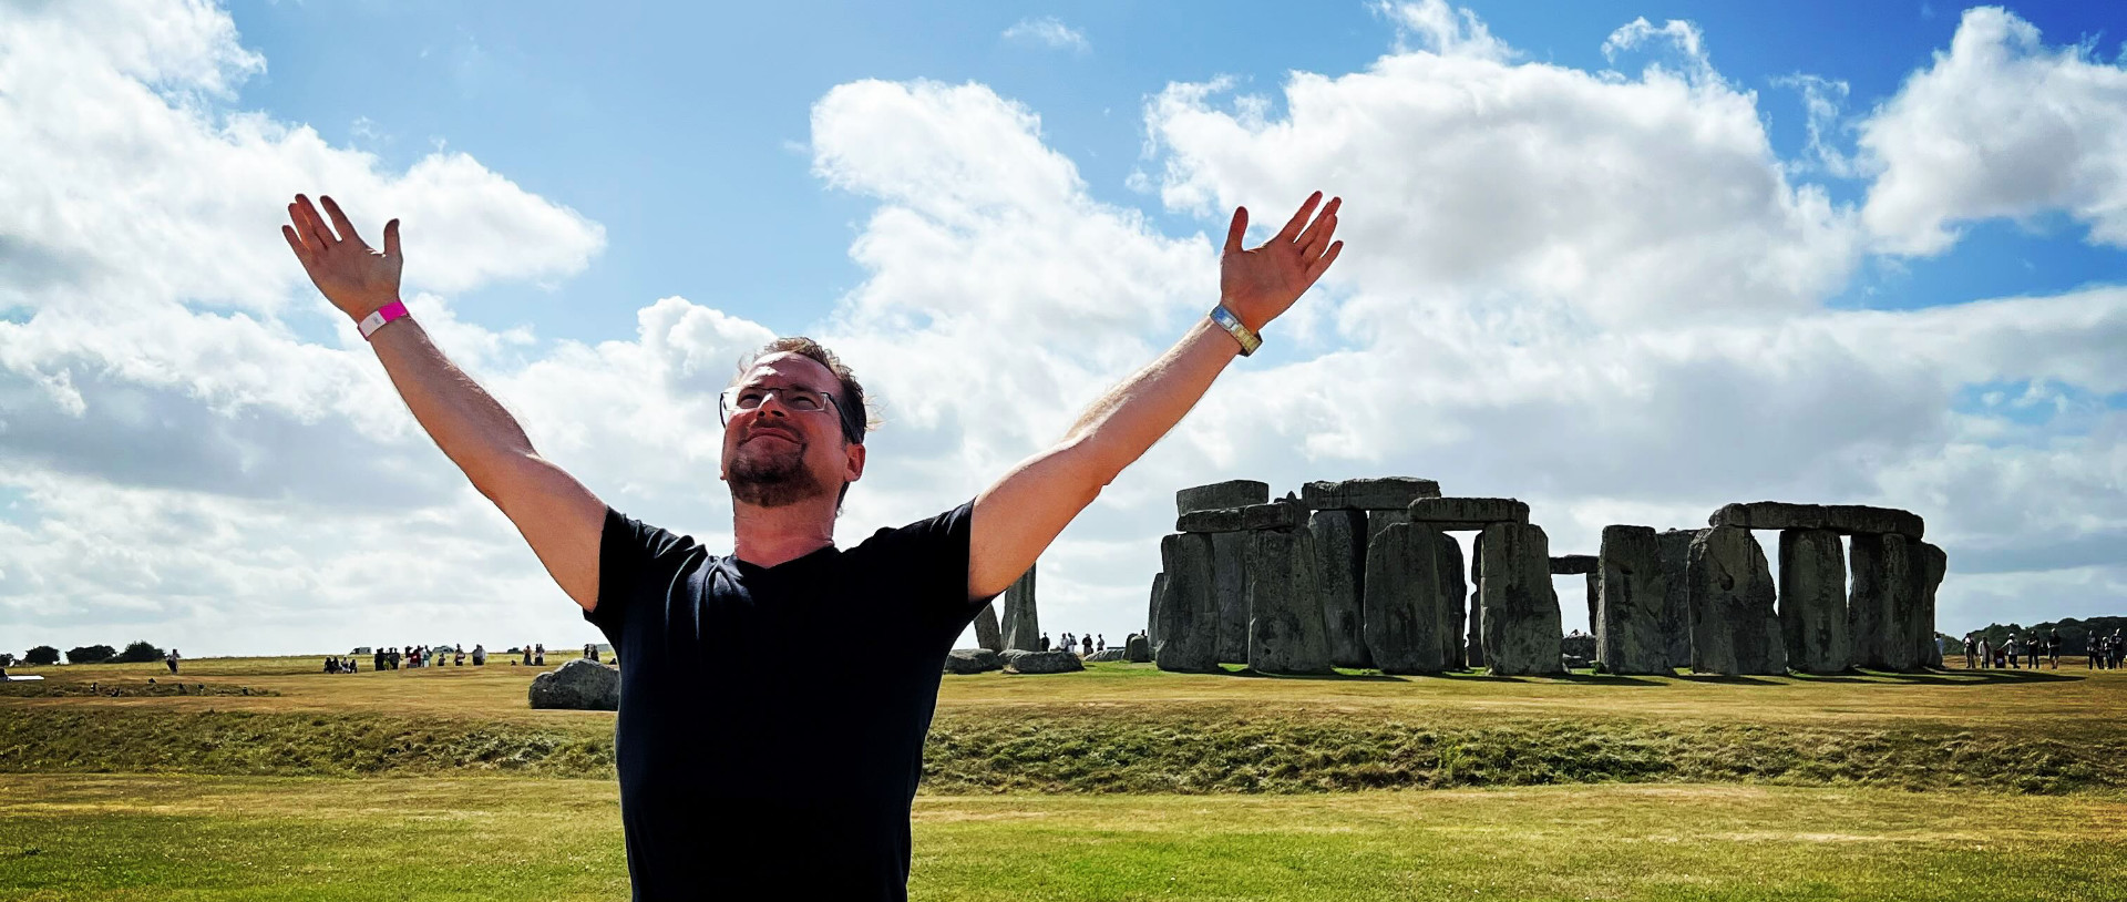
<path fill-rule="evenodd" d="M 1661 611 L 1670 585 L 1648 525 L 1606 525 L 1595 555 L 1595 659 L 1612 674 L 1674 674 Z"/>

